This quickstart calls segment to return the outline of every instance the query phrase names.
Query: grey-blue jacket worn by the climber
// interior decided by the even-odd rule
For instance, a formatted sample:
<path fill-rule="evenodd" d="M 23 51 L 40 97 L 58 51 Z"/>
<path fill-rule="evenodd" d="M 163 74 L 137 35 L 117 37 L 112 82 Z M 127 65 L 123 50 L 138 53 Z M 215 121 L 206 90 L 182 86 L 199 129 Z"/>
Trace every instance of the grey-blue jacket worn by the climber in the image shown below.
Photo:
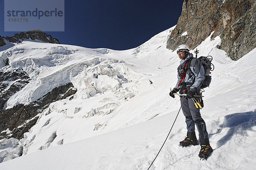
<path fill-rule="evenodd" d="M 190 69 L 187 69 L 186 77 L 183 82 L 188 83 L 188 85 L 186 85 L 186 88 L 189 89 L 190 91 L 198 91 L 204 80 L 204 67 L 199 59 L 193 58 L 192 53 L 189 53 L 185 59 L 182 59 L 180 61 L 180 65 L 177 69 L 178 81 L 175 88 L 177 89 L 181 88 L 181 85 L 180 87 L 178 87 L 178 84 L 182 78 L 180 77 L 180 71 L 188 59 L 191 59 Z"/>

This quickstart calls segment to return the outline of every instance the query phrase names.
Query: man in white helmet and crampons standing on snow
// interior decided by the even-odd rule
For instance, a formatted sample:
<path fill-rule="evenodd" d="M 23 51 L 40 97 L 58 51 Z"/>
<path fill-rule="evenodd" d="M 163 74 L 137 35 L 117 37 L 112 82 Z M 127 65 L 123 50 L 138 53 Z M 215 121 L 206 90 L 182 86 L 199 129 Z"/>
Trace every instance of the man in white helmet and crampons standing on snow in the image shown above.
<path fill-rule="evenodd" d="M 198 140 L 195 136 L 195 125 L 199 132 L 199 140 L 201 150 L 200 158 L 207 158 L 212 152 L 212 147 L 209 144 L 208 133 L 204 119 L 200 114 L 200 108 L 195 107 L 195 98 L 193 95 L 199 95 L 201 84 L 204 80 L 204 67 L 199 59 L 193 58 L 193 54 L 189 53 L 187 45 L 180 45 L 177 49 L 177 54 L 181 59 L 178 67 L 178 81 L 175 88 L 170 92 L 170 96 L 175 98 L 174 94 L 180 91 L 180 94 L 186 94 L 180 99 L 181 108 L 186 117 L 187 137 L 180 142 L 180 146 L 187 147 L 190 144 L 198 145 Z M 196 99 L 196 98 L 195 98 Z M 196 100 L 200 100 L 197 98 Z"/>

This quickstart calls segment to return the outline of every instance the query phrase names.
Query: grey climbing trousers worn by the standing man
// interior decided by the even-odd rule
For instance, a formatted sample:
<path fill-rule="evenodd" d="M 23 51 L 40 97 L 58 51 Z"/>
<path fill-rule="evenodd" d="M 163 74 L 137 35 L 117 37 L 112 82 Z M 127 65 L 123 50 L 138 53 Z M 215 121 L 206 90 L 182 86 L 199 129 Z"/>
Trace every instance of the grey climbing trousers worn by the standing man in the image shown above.
<path fill-rule="evenodd" d="M 181 109 L 184 116 L 186 117 L 187 125 L 187 138 L 196 139 L 195 136 L 195 125 L 197 126 L 199 132 L 200 144 L 209 144 L 208 133 L 204 119 L 201 117 L 200 108 L 195 107 L 193 99 L 187 99 L 186 97 L 181 97 L 180 103 L 182 103 Z"/>

